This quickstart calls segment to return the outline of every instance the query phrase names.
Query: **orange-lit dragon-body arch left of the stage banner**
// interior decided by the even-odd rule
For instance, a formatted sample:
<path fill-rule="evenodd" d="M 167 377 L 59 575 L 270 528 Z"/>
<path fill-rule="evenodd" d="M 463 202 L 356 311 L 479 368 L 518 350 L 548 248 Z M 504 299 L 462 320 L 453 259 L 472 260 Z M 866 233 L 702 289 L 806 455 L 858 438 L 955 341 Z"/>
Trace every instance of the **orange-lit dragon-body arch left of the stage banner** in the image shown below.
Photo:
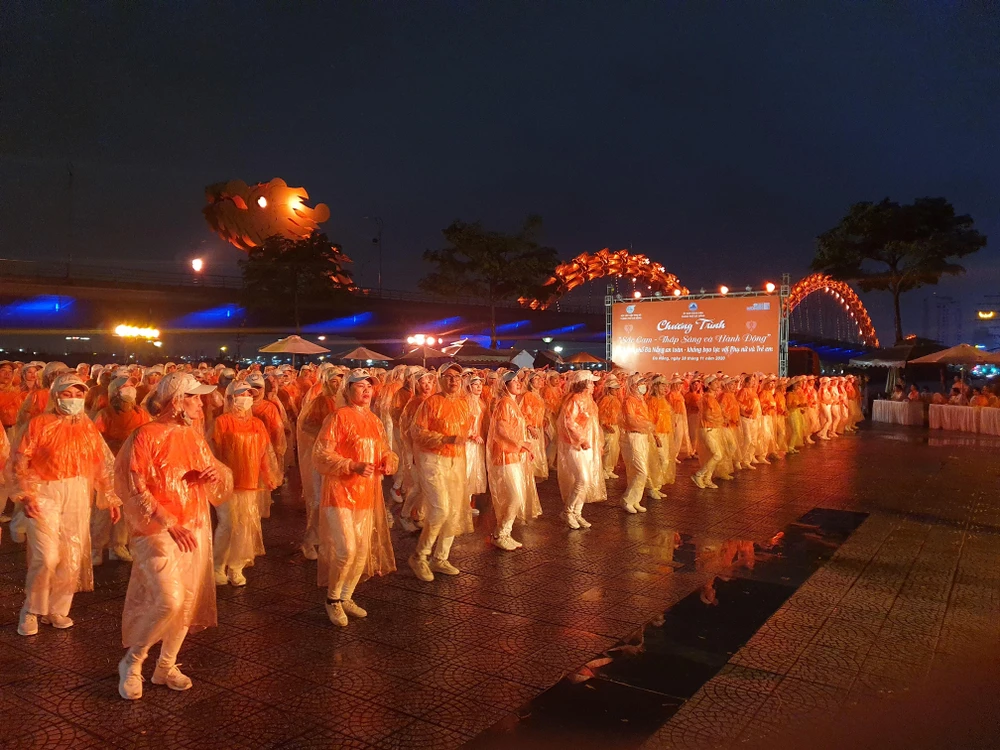
<path fill-rule="evenodd" d="M 628 276 L 637 281 L 642 280 L 654 292 L 673 294 L 674 290 L 680 290 L 681 294 L 688 293 L 676 276 L 667 273 L 661 264 L 654 263 L 645 255 L 604 248 L 596 253 L 581 253 L 568 263 L 556 266 L 555 273 L 545 282 L 548 294 L 544 298 L 522 297 L 518 301 L 532 310 L 544 310 L 571 289 L 606 276 Z"/>

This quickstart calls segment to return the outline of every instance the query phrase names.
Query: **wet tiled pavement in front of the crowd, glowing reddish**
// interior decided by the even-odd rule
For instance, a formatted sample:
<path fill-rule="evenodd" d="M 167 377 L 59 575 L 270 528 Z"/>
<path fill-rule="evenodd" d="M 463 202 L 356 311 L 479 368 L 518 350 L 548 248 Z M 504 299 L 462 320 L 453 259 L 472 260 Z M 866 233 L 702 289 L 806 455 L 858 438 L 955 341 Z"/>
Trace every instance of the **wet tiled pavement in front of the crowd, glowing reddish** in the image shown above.
<path fill-rule="evenodd" d="M 247 587 L 218 590 L 220 627 L 181 651 L 194 688 L 147 682 L 138 703 L 118 698 L 115 673 L 128 565 L 96 571 L 75 627 L 22 638 L 24 554 L 4 528 L 0 747 L 522 747 L 546 716 L 571 717 L 578 746 L 744 746 L 892 699 L 997 642 L 997 447 L 871 428 L 715 493 L 688 465 L 645 515 L 588 506 L 589 531 L 559 523 L 549 481 L 525 548 L 464 537 L 456 578 L 417 581 L 415 540 L 394 531 L 400 570 L 362 585 L 369 616 L 344 630 L 287 499 Z M 602 735 L 593 722 L 624 703 L 628 726 Z"/>

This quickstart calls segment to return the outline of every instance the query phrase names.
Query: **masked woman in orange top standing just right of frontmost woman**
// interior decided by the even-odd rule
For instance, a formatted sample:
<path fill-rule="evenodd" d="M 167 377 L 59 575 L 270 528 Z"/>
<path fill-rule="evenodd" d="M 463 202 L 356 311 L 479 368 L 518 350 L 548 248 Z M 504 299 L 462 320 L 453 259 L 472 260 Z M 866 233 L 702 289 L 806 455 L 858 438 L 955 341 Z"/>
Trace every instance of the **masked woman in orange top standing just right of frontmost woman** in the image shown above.
<path fill-rule="evenodd" d="M 211 446 L 233 473 L 233 494 L 218 507 L 212 554 L 215 585 L 245 586 L 243 569 L 264 554 L 260 527 L 260 495 L 268 496 L 281 482 L 278 459 L 267 428 L 253 416 L 248 383 L 232 381 L 226 388 L 225 411 L 215 418 Z"/>

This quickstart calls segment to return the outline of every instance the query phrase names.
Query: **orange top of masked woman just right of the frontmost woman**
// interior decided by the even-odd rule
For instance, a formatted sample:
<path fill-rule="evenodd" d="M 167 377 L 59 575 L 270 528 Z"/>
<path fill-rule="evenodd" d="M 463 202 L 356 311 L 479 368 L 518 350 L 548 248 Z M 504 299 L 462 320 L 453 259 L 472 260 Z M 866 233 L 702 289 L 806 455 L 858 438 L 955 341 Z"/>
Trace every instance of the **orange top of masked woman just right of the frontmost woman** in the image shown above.
<path fill-rule="evenodd" d="M 273 490 L 281 484 L 271 438 L 257 417 L 220 414 L 212 430 L 212 445 L 218 459 L 233 472 L 234 490 Z"/>

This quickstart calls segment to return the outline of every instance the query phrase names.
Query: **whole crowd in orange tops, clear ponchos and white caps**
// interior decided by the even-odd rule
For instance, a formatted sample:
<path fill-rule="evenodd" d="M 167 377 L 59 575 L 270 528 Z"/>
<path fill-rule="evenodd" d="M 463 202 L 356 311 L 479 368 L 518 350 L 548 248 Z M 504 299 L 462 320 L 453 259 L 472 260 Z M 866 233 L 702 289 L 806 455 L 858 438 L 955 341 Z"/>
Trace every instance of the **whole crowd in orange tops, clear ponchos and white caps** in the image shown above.
<path fill-rule="evenodd" d="M 607 500 L 621 465 L 620 506 L 639 514 L 669 500 L 685 461 L 715 490 L 862 419 L 851 376 L 0 362 L 2 520 L 27 546 L 18 632 L 72 627 L 73 595 L 93 589 L 107 552 L 132 565 L 119 693 L 141 697 L 157 643 L 153 684 L 186 690 L 184 638 L 216 624 L 216 586 L 247 584 L 293 472 L 302 554 L 343 627 L 367 614 L 359 583 L 395 571 L 397 522 L 431 582 L 461 573 L 456 536 L 520 549 L 515 524 L 541 514 L 537 485 L 553 473 L 563 522 L 589 529 L 584 508 Z M 478 521 L 477 498 L 492 510 Z"/>

